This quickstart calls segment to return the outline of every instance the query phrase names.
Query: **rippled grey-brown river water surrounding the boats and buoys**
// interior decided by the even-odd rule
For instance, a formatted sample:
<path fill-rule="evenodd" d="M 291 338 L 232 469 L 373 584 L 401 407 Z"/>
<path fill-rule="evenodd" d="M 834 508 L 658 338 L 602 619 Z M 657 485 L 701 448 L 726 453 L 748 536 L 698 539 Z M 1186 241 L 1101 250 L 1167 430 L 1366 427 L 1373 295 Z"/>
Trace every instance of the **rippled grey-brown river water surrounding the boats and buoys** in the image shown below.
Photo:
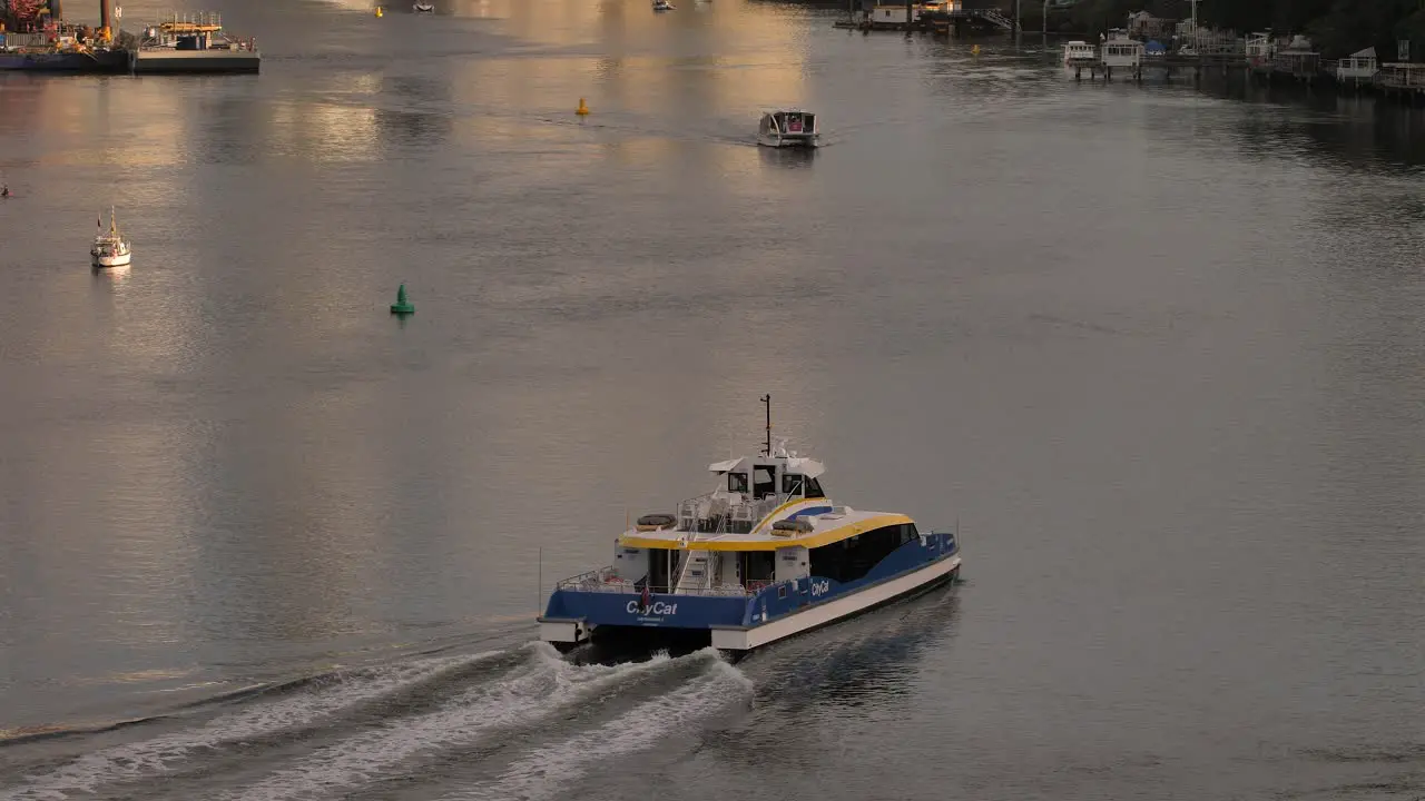
<path fill-rule="evenodd" d="M 0 78 L 0 798 L 1425 794 L 1419 111 L 224 3 L 258 77 Z M 764 392 L 965 580 L 735 666 L 533 643 Z"/>

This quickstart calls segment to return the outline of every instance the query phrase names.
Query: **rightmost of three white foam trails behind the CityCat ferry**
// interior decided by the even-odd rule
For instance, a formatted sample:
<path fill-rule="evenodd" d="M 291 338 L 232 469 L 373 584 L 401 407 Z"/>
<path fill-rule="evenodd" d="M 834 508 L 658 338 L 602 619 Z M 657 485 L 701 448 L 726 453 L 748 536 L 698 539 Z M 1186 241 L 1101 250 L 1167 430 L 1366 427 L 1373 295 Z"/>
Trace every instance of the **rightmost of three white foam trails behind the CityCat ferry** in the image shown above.
<path fill-rule="evenodd" d="M 717 660 L 712 670 L 651 701 L 638 704 L 604 725 L 530 753 L 490 785 L 447 795 L 445 801 L 534 801 L 560 795 L 560 788 L 587 772 L 589 765 L 617 763 L 646 751 L 678 730 L 688 730 L 730 703 L 751 698 L 752 681 Z"/>

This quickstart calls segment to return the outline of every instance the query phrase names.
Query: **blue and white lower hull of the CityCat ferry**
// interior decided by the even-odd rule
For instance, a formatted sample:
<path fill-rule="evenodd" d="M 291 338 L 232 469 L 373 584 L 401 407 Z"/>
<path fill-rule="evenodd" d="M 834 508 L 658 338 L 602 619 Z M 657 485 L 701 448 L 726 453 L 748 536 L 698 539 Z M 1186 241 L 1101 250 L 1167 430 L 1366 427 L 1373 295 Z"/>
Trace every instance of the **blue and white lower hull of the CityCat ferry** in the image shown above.
<path fill-rule="evenodd" d="M 644 604 L 638 593 L 556 590 L 542 626 L 593 634 L 598 629 L 707 631 L 714 646 L 747 650 L 825 626 L 881 603 L 925 590 L 959 570 L 953 534 L 931 533 L 891 552 L 865 576 L 841 583 L 812 576 L 764 587 L 751 596 L 661 594 Z"/>

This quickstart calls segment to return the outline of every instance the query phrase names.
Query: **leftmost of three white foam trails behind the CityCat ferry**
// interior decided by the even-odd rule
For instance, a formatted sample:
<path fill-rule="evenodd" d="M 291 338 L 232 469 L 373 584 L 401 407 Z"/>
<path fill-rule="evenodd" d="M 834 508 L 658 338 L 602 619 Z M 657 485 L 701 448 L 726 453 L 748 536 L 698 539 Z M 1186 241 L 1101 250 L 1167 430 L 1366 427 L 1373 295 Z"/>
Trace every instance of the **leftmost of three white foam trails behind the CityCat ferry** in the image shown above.
<path fill-rule="evenodd" d="M 60 801 L 74 792 L 93 792 L 105 784 L 168 772 L 174 763 L 188 758 L 195 751 L 309 725 L 346 707 L 499 654 L 500 651 L 489 651 L 475 656 L 433 657 L 399 666 L 338 673 L 311 691 L 268 703 L 256 700 L 255 706 L 214 718 L 198 730 L 174 731 L 84 754 L 53 772 L 26 777 L 23 787 L 0 792 L 0 801 Z"/>

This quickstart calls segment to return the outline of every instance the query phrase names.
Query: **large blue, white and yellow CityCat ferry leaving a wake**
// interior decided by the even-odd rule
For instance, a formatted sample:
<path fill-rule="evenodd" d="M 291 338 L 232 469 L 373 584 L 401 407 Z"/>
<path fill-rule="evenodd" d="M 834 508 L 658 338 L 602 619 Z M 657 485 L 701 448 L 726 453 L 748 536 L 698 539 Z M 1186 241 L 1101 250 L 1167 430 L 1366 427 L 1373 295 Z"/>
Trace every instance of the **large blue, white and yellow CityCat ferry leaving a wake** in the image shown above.
<path fill-rule="evenodd" d="M 638 517 L 613 564 L 559 582 L 542 640 L 681 634 L 750 651 L 959 576 L 953 533 L 832 500 L 821 462 L 772 448 L 762 402 L 762 452 L 710 465 L 717 489 Z"/>

